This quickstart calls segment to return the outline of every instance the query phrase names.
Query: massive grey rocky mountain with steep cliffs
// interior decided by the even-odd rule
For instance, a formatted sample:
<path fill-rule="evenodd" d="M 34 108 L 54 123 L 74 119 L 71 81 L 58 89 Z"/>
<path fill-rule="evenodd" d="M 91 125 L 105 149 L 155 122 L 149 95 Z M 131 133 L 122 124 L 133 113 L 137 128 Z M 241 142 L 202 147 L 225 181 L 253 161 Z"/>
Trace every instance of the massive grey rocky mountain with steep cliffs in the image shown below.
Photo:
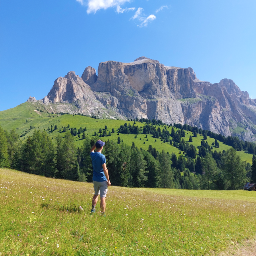
<path fill-rule="evenodd" d="M 28 101 L 36 101 L 30 97 Z M 229 79 L 201 81 L 192 68 L 164 66 L 140 57 L 131 63 L 101 62 L 81 77 L 70 71 L 39 100 L 53 112 L 100 118 L 148 118 L 189 124 L 224 136 L 255 141 L 256 100 Z"/>

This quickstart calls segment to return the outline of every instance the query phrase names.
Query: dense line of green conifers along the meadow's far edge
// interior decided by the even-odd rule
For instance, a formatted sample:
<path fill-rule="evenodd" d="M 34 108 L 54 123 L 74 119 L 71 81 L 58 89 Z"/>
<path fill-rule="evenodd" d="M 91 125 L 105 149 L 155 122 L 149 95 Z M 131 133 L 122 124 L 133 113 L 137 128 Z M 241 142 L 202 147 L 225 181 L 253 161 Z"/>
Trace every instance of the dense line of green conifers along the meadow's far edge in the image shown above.
<path fill-rule="evenodd" d="M 35 129 L 33 135 L 21 143 L 15 130 L 6 132 L 0 126 L 0 167 L 92 182 L 90 148 L 98 138 L 85 136 L 82 146 L 76 148 L 70 131 L 64 138 L 59 134 L 54 144 L 46 131 Z M 151 145 L 144 150 L 134 142 L 129 146 L 108 140 L 102 153 L 115 186 L 234 190 L 241 189 L 245 182 L 256 182 L 255 156 L 252 165 L 246 164 L 234 148 L 213 152 L 207 141 L 202 140 L 199 155 L 194 157 L 194 153 L 188 154 L 188 150 L 195 150 L 191 146 L 186 158 L 182 154 L 177 158 L 176 154 L 158 152 Z"/>

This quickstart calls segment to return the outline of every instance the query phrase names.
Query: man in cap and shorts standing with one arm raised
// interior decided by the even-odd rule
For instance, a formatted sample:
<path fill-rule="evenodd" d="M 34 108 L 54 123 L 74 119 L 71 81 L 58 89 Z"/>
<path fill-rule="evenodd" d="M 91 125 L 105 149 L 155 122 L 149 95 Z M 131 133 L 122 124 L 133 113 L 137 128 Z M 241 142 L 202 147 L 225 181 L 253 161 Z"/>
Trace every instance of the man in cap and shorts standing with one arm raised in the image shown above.
<path fill-rule="evenodd" d="M 92 159 L 92 168 L 93 175 L 92 181 L 94 186 L 94 196 L 92 198 L 92 210 L 95 212 L 95 206 L 98 202 L 98 195 L 100 194 L 100 209 L 102 216 L 105 215 L 106 209 L 106 194 L 108 192 L 108 186 L 111 185 L 108 176 L 108 169 L 106 166 L 106 157 L 101 153 L 103 146 L 105 145 L 104 141 L 98 140 L 91 148 L 91 159 Z M 96 148 L 96 152 L 94 152 Z"/>

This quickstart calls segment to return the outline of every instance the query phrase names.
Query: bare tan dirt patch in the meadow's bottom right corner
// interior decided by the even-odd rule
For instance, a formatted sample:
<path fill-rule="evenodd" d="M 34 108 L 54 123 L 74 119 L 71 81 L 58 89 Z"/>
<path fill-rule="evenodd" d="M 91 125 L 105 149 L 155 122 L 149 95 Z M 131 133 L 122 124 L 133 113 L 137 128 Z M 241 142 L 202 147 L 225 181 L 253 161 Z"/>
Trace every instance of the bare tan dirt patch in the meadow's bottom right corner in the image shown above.
<path fill-rule="evenodd" d="M 246 240 L 242 244 L 230 246 L 226 251 L 221 252 L 218 256 L 255 256 L 256 239 Z"/>

